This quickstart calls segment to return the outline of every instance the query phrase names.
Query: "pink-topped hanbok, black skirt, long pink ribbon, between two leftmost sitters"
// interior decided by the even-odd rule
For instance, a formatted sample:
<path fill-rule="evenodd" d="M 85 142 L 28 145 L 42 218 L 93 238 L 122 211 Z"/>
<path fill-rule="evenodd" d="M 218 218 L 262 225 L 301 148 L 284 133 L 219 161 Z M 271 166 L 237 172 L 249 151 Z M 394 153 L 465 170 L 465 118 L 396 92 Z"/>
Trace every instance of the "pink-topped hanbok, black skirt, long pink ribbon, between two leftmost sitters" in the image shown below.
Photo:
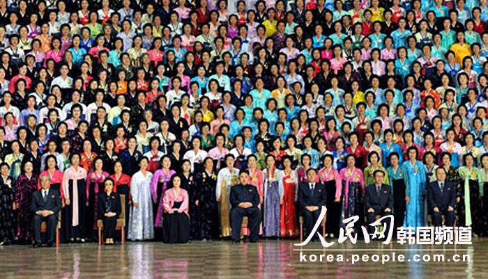
<path fill-rule="evenodd" d="M 64 239 L 83 239 L 85 236 L 86 214 L 86 170 L 81 166 L 77 169 L 70 166 L 63 173 L 63 195 L 70 204 L 61 212 L 63 222 L 61 231 Z"/>

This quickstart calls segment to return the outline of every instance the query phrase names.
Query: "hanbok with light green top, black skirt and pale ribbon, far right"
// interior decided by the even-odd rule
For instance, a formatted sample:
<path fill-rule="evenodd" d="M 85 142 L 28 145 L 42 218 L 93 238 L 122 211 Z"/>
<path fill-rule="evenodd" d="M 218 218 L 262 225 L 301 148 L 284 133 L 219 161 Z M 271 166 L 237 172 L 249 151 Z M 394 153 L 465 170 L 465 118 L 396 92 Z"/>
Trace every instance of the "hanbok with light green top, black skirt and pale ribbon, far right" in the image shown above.
<path fill-rule="evenodd" d="M 480 197 L 483 196 L 484 186 L 482 172 L 478 168 L 466 166 L 459 167 L 458 171 L 464 181 L 457 208 L 459 223 L 466 227 L 471 226 L 475 234 L 480 234 L 482 228 Z"/>

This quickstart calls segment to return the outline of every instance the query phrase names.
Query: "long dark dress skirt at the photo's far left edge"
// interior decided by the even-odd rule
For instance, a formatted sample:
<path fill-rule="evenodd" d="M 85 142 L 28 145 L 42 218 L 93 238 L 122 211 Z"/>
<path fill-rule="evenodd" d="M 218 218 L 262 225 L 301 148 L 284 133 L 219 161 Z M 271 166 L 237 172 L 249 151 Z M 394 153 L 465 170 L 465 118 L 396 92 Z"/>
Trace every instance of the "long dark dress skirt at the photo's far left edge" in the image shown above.
<path fill-rule="evenodd" d="M 13 202 L 15 194 L 13 188 L 5 184 L 0 185 L 0 242 L 13 241 L 15 235 L 15 215 Z"/>

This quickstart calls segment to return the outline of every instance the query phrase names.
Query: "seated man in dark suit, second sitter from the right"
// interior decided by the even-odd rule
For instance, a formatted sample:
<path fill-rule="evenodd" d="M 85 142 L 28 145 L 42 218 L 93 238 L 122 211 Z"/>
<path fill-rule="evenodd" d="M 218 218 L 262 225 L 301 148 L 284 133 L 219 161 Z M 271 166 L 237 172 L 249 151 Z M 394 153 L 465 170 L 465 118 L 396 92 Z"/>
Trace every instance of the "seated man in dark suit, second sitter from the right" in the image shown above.
<path fill-rule="evenodd" d="M 368 225 L 376 221 L 376 215 L 380 215 L 381 217 L 391 215 L 391 209 L 393 207 L 391 187 L 390 185 L 383 184 L 383 178 L 385 177 L 383 170 L 374 170 L 373 177 L 374 184 L 367 186 L 365 192 L 365 208 L 367 211 Z M 369 226 L 369 232 L 374 232 L 372 226 Z"/>

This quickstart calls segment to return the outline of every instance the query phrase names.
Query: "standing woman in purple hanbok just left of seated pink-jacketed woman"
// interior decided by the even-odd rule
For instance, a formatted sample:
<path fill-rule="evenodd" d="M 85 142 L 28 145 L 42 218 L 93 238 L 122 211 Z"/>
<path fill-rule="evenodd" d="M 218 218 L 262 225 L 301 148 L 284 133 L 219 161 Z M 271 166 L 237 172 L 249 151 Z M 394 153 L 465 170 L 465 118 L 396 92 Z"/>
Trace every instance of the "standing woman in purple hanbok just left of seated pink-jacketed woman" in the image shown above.
<path fill-rule="evenodd" d="M 171 176 L 176 173 L 176 171 L 169 169 L 171 168 L 171 159 L 167 155 L 161 158 L 161 166 L 162 169 L 155 171 L 151 182 L 151 194 L 155 205 L 155 207 L 153 207 L 155 216 L 154 226 L 156 228 L 162 228 L 162 214 L 164 213 L 162 207 L 162 193 L 165 193 L 167 183 L 171 180 Z"/>

